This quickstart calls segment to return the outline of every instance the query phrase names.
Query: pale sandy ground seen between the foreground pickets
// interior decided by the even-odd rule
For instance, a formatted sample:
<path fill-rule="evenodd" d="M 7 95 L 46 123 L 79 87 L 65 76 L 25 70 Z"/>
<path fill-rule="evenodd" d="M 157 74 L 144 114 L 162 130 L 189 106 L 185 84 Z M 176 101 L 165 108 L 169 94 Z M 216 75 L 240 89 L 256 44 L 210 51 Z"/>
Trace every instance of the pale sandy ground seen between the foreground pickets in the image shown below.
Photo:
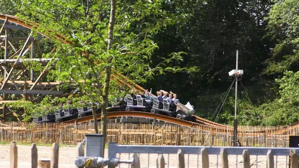
<path fill-rule="evenodd" d="M 31 146 L 18 147 L 18 167 L 29 168 L 31 167 Z M 51 147 L 37 146 L 38 158 L 51 159 Z M 9 145 L 0 145 L 0 168 L 9 167 Z M 59 167 L 75 167 L 74 161 L 76 147 L 59 147 Z M 107 157 L 108 150 L 105 150 L 105 157 Z M 131 158 L 133 154 L 121 154 L 120 160 L 127 160 Z M 177 155 L 175 154 L 164 154 L 165 167 L 177 167 Z M 119 157 L 119 155 L 117 156 Z M 156 167 L 156 159 L 158 154 L 140 154 L 140 167 Z M 229 167 L 243 167 L 242 156 L 229 155 Z M 236 160 L 237 159 L 237 160 Z M 277 161 L 277 166 L 276 166 Z M 266 167 L 266 156 L 250 156 L 251 167 Z M 201 167 L 201 156 L 197 155 L 185 155 L 186 167 Z M 237 163 L 237 164 L 236 164 Z M 220 156 L 209 155 L 210 167 L 220 167 Z M 119 167 L 129 167 L 127 164 L 121 164 Z M 274 167 L 286 167 L 286 156 L 274 156 Z"/>

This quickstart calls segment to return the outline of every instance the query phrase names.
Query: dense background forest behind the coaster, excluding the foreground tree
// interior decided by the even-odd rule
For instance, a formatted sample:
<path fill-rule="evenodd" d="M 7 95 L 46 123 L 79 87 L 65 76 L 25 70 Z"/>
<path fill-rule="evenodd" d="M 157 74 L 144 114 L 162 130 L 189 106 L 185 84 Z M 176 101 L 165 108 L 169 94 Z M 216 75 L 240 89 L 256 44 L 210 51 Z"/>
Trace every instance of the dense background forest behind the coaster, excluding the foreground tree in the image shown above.
<path fill-rule="evenodd" d="M 38 2 L 42 1 L 46 0 Z M 32 6 L 36 4 L 29 2 L 2 1 L 2 7 L 7 8 L 0 12 L 41 21 L 36 18 L 40 15 L 28 10 L 36 9 Z M 26 3 L 29 4 L 27 9 Z M 124 30 L 135 34 L 149 30 L 145 36 L 149 33 L 156 45 L 147 53 L 150 56 L 145 61 L 149 66 L 156 66 L 172 53 L 181 53 L 181 62 L 170 61 L 168 71 L 145 78 L 146 81 L 140 83 L 145 89 L 172 91 L 182 103 L 189 101 L 198 116 L 231 125 L 235 113 L 235 85 L 223 106 L 222 101 L 234 80 L 228 72 L 235 69 L 238 50 L 239 69 L 244 70 L 238 87 L 239 124 L 286 125 L 299 121 L 298 0 L 120 0 L 116 3 L 119 3 L 117 8 L 123 9 L 118 10 L 116 22 L 127 16 L 136 19 L 134 10 L 137 13 L 156 10 L 142 15 L 138 20 L 142 24 L 131 24 Z M 144 8 L 130 11 L 126 3 L 139 3 Z M 152 6 L 147 9 L 149 6 L 142 3 Z M 103 18 L 107 18 L 109 10 L 103 9 L 108 11 L 103 12 Z M 163 26 L 150 26 L 156 23 Z M 197 70 L 183 71 L 176 67 L 196 67 Z"/>

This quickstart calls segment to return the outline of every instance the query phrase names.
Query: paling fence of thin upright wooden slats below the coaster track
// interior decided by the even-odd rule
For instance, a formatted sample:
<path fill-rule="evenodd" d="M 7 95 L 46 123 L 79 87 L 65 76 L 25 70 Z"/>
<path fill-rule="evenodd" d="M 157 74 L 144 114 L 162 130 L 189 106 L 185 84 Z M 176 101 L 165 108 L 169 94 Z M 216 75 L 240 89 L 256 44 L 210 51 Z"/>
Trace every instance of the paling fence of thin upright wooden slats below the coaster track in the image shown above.
<path fill-rule="evenodd" d="M 98 125 L 100 130 L 100 125 Z M 85 134 L 94 133 L 92 123 L 17 123 L 0 124 L 0 141 L 77 144 Z M 292 126 L 239 126 L 238 140 L 247 147 L 288 147 L 289 136 L 299 135 Z M 107 143 L 131 145 L 232 146 L 233 130 L 227 126 L 178 126 L 151 124 L 107 124 Z"/>

